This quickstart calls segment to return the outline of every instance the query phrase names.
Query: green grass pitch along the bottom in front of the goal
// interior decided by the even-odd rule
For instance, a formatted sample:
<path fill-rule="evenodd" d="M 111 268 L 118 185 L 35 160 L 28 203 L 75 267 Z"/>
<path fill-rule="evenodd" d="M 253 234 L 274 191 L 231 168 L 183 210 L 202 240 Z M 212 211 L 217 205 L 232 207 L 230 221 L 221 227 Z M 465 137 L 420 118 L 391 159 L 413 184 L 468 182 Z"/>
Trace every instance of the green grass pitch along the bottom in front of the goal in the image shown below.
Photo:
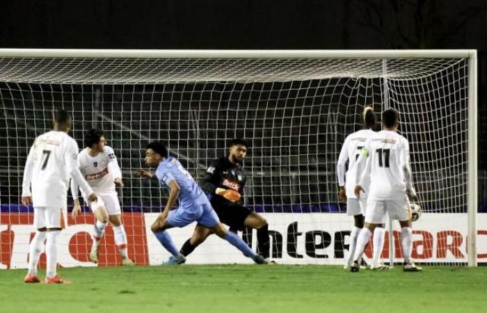
<path fill-rule="evenodd" d="M 61 268 L 70 285 L 0 271 L 1 312 L 484 312 L 487 268 L 423 273 L 338 266 Z M 40 272 L 44 278 L 44 271 Z"/>

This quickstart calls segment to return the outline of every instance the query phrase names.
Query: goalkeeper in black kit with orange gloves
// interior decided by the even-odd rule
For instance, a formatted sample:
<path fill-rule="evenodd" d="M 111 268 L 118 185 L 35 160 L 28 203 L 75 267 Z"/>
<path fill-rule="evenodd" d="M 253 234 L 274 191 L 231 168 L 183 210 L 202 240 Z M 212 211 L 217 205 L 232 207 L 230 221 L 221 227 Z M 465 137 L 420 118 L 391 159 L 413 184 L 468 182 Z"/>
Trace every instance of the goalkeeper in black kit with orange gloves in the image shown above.
<path fill-rule="evenodd" d="M 257 230 L 260 255 L 269 261 L 269 225 L 260 214 L 244 207 L 244 185 L 246 174 L 242 162 L 247 154 L 247 143 L 243 139 L 233 139 L 228 147 L 228 156 L 221 157 L 207 168 L 200 186 L 210 198 L 211 206 L 218 214 L 221 223 L 230 226 L 231 232 L 244 230 L 244 227 Z M 193 236 L 182 246 L 180 252 L 185 257 L 200 245 L 211 231 L 196 225 Z"/>

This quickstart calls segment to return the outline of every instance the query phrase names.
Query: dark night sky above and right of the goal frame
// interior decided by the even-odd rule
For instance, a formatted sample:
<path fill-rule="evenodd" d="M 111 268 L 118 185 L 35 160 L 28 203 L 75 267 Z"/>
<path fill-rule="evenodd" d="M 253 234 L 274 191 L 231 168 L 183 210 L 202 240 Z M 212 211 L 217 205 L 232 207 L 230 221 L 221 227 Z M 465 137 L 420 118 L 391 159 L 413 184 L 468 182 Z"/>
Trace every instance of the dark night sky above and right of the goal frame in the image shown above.
<path fill-rule="evenodd" d="M 3 1 L 0 47 L 478 49 L 479 204 L 487 202 L 486 1 Z"/>

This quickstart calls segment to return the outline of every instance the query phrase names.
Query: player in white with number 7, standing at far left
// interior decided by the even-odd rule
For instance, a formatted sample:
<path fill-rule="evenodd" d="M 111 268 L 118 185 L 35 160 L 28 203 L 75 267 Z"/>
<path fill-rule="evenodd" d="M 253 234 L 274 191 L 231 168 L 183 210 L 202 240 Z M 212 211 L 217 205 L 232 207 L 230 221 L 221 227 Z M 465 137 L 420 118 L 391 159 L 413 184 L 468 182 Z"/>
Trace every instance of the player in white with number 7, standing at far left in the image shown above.
<path fill-rule="evenodd" d="M 63 284 L 56 274 L 58 263 L 58 237 L 67 220 L 67 188 L 70 177 L 96 202 L 97 196 L 83 179 L 77 167 L 78 144 L 67 135 L 71 129 L 71 116 L 58 111 L 54 117 L 54 130 L 35 138 L 27 157 L 22 182 L 22 204 L 33 204 L 35 236 L 29 252 L 29 272 L 24 282 L 40 282 L 37 273 L 42 244 L 46 240 L 46 284 Z"/>

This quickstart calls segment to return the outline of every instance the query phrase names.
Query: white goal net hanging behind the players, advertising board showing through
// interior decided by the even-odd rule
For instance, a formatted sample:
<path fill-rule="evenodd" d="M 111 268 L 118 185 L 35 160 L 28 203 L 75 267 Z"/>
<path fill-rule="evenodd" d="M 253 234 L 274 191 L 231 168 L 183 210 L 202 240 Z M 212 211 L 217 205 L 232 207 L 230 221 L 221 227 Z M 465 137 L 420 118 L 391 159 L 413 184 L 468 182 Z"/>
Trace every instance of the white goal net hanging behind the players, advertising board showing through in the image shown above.
<path fill-rule="evenodd" d="M 232 138 L 249 143 L 244 200 L 269 222 L 272 258 L 343 264 L 353 219 L 338 202 L 335 169 L 344 138 L 362 127 L 365 106 L 397 109 L 399 131 L 410 143 L 422 206 L 413 223 L 413 259 L 467 264 L 470 258 L 474 265 L 475 78 L 474 51 L 0 50 L 0 268 L 28 265 L 34 229 L 32 208 L 19 204 L 24 163 L 59 108 L 72 112 L 70 135 L 80 147 L 96 127 L 115 150 L 129 256 L 138 264 L 168 257 L 150 232 L 167 193 L 157 179 L 134 175 L 145 167 L 145 145 L 166 141 L 198 180 Z M 83 211 L 63 230 L 61 266 L 95 266 L 88 262 L 94 219 Z M 169 230 L 177 246 L 193 226 Z M 400 262 L 397 221 L 389 231 L 382 257 Z M 257 248 L 252 230 L 241 235 Z M 249 261 L 211 236 L 188 262 Z M 107 227 L 99 265 L 117 264 Z"/>

